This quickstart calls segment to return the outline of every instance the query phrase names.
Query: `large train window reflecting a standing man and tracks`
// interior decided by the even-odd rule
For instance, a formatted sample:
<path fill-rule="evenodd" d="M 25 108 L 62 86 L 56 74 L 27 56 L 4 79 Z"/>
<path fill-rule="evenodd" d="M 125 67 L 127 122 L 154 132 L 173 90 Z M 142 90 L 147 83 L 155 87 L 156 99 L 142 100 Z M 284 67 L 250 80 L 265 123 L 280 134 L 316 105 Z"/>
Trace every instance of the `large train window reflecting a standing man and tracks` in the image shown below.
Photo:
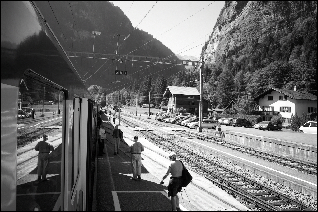
<path fill-rule="evenodd" d="M 24 75 L 23 80 L 25 84 L 20 85 L 21 107 L 34 110 L 36 118 L 32 119 L 31 115 L 17 120 L 16 209 L 58 211 L 61 210 L 61 182 L 64 181 L 62 117 L 65 94 L 33 77 Z M 61 115 L 57 113 L 59 110 Z M 48 137 L 43 137 L 43 134 Z"/>

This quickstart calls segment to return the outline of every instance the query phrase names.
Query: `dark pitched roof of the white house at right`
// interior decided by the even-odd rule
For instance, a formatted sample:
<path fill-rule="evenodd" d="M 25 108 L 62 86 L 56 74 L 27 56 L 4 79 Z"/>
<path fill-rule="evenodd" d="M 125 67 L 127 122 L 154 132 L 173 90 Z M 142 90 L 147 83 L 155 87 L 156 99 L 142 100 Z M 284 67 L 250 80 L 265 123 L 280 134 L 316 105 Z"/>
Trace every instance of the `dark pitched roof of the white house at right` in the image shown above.
<path fill-rule="evenodd" d="M 308 93 L 306 91 L 302 90 L 292 90 L 292 89 L 282 89 L 282 88 L 271 88 L 263 92 L 262 94 L 256 96 L 254 100 L 258 100 L 262 97 L 264 97 L 266 94 L 272 92 L 272 91 L 278 91 L 286 96 L 289 96 L 290 98 L 296 99 L 296 100 L 316 100 L 317 101 L 317 96 Z"/>

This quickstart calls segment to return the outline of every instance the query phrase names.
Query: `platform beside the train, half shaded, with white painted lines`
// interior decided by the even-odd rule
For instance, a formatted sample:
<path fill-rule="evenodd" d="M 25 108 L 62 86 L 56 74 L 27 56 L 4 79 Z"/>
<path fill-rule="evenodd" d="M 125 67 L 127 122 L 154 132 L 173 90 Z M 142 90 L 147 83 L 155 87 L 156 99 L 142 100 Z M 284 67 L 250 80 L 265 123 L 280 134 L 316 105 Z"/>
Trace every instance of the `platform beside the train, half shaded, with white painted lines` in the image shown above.
<path fill-rule="evenodd" d="M 119 126 L 124 138 L 119 154 L 114 155 L 114 124 L 108 124 L 106 116 L 102 116 L 102 119 L 107 126 L 106 154 L 97 159 L 96 202 L 93 202 L 93 210 L 171 211 L 170 197 L 167 196 L 169 177 L 160 185 L 169 162 L 168 153 L 138 135 L 138 141 L 145 148 L 142 152 L 142 180 L 133 181 L 131 154 L 127 153 L 127 144 L 133 142 L 133 136 L 137 134 L 128 127 Z M 179 194 L 180 209 L 183 211 L 250 211 L 203 176 L 191 170 L 189 172 L 193 180 L 185 188 L 187 195 L 184 190 L 182 196 Z"/>

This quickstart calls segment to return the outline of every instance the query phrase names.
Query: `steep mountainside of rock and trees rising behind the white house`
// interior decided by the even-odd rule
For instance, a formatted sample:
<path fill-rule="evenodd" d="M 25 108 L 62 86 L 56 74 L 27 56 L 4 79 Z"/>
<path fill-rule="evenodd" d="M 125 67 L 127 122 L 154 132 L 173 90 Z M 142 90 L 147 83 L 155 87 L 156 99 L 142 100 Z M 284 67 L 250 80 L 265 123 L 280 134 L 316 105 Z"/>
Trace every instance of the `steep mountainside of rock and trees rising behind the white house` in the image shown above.
<path fill-rule="evenodd" d="M 317 1 L 225 1 L 201 56 L 214 107 L 271 87 L 317 95 Z"/>

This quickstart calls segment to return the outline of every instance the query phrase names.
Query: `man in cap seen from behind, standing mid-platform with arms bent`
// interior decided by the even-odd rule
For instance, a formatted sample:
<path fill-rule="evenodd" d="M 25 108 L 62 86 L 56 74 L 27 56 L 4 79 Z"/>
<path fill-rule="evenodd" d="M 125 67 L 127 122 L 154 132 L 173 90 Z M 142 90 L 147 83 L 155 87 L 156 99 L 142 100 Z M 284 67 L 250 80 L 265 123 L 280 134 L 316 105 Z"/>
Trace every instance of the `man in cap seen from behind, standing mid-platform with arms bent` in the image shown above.
<path fill-rule="evenodd" d="M 129 145 L 127 152 L 131 152 L 130 157 L 130 165 L 131 169 L 133 171 L 133 180 L 137 180 L 137 177 L 139 180 L 141 180 L 141 153 L 143 152 L 143 146 L 142 143 L 138 142 L 138 136 L 134 136 L 134 142 Z"/>

